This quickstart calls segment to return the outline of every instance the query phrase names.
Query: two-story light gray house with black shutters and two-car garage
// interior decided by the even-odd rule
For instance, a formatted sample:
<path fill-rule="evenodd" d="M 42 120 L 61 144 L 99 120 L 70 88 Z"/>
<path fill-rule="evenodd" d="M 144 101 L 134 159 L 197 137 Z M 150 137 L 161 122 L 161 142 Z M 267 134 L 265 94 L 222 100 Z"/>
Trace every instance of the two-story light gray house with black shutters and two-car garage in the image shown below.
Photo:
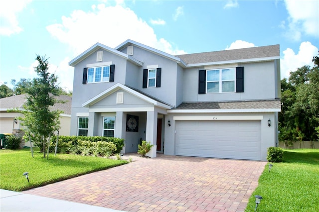
<path fill-rule="evenodd" d="M 279 45 L 173 56 L 127 40 L 69 65 L 71 135 L 123 138 L 122 153 L 150 141 L 151 157 L 266 160 L 278 145 Z"/>

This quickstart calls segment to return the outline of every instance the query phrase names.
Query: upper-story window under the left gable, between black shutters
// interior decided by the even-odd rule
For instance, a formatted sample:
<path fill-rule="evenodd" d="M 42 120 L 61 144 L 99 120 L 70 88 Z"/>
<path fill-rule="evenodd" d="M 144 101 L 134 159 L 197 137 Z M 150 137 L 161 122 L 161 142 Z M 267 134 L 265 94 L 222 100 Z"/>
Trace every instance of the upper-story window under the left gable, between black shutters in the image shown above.
<path fill-rule="evenodd" d="M 88 68 L 87 83 L 110 82 L 110 66 Z"/>

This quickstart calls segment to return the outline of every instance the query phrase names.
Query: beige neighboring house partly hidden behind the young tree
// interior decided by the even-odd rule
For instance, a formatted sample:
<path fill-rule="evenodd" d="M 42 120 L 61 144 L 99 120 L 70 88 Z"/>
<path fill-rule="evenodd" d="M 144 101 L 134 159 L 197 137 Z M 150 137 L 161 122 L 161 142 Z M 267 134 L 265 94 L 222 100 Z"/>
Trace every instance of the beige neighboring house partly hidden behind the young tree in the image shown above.
<path fill-rule="evenodd" d="M 23 110 L 23 105 L 26 102 L 26 95 L 16 95 L 12 97 L 6 97 L 0 99 L 0 134 L 13 133 L 13 134 L 23 134 L 23 125 L 21 125 L 20 120 L 17 117 L 22 116 L 19 112 L 7 112 L 7 109 L 19 108 Z M 61 95 L 57 97 L 59 100 L 65 101 L 65 104 L 57 103 L 53 106 L 53 109 L 62 110 L 63 113 L 60 114 L 60 130 L 59 135 L 70 135 L 70 122 L 71 122 L 71 102 L 72 97 Z M 25 143 L 29 146 L 29 142 Z"/>

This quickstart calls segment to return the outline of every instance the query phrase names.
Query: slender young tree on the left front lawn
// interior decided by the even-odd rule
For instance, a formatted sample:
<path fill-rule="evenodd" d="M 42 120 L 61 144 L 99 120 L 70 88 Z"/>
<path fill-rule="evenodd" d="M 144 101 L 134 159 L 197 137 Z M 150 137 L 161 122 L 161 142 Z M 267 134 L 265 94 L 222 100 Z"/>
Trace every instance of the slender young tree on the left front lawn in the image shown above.
<path fill-rule="evenodd" d="M 57 77 L 48 73 L 49 63 L 45 57 L 36 56 L 39 65 L 35 67 L 38 78 L 30 81 L 30 86 L 25 88 L 26 104 L 21 124 L 25 126 L 27 134 L 41 138 L 43 145 L 43 157 L 45 158 L 45 146 L 48 137 L 59 129 L 59 114 L 62 111 L 53 110 L 52 106 L 58 102 L 55 98 L 59 95 Z M 49 144 L 48 144 L 49 145 Z"/>

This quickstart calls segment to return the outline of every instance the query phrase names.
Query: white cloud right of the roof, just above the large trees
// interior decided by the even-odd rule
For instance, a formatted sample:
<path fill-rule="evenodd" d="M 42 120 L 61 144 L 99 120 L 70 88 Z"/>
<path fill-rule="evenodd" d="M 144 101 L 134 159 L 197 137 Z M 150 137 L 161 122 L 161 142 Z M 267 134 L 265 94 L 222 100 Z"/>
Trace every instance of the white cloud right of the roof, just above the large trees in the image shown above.
<path fill-rule="evenodd" d="M 299 47 L 299 52 L 296 54 L 291 48 L 283 51 L 284 56 L 280 60 L 281 78 L 289 78 L 291 71 L 296 71 L 305 65 L 314 66 L 312 59 L 318 55 L 318 48 L 311 42 L 302 42 Z"/>

